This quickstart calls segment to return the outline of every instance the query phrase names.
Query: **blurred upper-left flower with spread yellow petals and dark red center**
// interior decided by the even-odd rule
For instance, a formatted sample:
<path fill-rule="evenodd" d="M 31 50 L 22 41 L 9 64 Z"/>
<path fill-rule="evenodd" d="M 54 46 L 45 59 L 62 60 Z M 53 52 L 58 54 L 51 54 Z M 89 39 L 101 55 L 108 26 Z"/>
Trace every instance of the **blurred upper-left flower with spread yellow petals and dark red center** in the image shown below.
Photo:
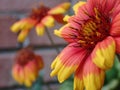
<path fill-rule="evenodd" d="M 35 27 L 37 35 L 44 34 L 45 27 L 53 27 L 55 20 L 58 23 L 65 23 L 63 21 L 63 14 L 67 12 L 70 7 L 69 2 L 62 3 L 54 8 L 49 8 L 41 5 L 38 8 L 34 8 L 31 14 L 14 23 L 11 27 L 12 32 L 19 32 L 18 41 L 23 42 L 27 37 L 30 29 Z"/>

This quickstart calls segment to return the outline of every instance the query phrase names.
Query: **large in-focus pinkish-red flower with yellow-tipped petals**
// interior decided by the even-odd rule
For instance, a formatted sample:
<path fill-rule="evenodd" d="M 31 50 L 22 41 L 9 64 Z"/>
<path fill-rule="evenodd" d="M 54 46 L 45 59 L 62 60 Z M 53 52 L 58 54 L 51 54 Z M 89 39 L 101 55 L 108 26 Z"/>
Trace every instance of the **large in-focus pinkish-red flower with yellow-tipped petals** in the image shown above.
<path fill-rule="evenodd" d="M 120 1 L 87 0 L 73 7 L 68 23 L 55 30 L 69 45 L 53 61 L 59 82 L 74 75 L 74 90 L 101 90 L 105 71 L 120 53 Z"/>

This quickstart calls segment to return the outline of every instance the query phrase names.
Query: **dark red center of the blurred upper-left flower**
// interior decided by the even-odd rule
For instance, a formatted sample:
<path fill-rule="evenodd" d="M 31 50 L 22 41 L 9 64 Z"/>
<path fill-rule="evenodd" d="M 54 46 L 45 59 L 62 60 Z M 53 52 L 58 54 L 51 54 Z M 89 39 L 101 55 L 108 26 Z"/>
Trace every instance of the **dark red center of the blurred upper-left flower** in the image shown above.
<path fill-rule="evenodd" d="M 41 5 L 40 7 L 32 10 L 30 17 L 40 22 L 48 14 L 47 12 L 49 10 L 50 8 Z"/>

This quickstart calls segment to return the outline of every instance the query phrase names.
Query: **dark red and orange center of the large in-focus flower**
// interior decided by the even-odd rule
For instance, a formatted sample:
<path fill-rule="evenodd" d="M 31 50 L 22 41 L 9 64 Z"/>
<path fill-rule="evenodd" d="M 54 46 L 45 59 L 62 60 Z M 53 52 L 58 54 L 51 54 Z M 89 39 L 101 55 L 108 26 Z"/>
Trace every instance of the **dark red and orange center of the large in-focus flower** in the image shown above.
<path fill-rule="evenodd" d="M 95 16 L 91 16 L 81 24 L 76 36 L 80 47 L 93 49 L 95 45 L 109 35 L 110 19 L 95 9 Z"/>

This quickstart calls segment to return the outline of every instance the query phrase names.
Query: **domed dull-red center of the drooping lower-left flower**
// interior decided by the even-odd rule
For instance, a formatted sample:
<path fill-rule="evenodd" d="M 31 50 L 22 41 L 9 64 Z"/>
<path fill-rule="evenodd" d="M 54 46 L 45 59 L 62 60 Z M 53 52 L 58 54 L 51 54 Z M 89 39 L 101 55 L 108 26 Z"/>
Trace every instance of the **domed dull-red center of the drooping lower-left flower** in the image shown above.
<path fill-rule="evenodd" d="M 25 66 L 29 61 L 34 60 L 34 58 L 35 55 L 31 50 L 22 49 L 18 52 L 15 60 L 19 65 Z"/>

